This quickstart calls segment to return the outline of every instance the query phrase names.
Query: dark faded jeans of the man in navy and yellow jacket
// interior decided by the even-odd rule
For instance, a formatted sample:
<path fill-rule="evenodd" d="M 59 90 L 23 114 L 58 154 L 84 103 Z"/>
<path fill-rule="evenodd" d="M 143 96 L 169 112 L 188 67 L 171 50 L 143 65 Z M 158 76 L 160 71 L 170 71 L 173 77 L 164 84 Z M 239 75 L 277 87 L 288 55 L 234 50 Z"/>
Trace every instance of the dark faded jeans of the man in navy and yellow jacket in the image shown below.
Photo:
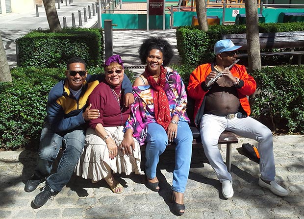
<path fill-rule="evenodd" d="M 51 173 L 52 164 L 64 142 L 65 149 L 57 171 L 47 178 L 49 185 L 56 192 L 70 181 L 84 147 L 85 133 L 82 129 L 72 129 L 63 133 L 51 130 L 49 124 L 43 126 L 37 158 L 36 174 L 46 177 Z"/>

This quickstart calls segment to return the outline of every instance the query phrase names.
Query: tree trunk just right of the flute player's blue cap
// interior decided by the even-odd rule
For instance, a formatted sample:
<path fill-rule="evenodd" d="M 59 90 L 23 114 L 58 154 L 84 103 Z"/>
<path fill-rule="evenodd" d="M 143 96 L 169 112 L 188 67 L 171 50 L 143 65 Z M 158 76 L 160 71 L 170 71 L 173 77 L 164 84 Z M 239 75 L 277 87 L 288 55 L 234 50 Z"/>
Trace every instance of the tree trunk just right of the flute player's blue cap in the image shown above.
<path fill-rule="evenodd" d="M 257 1 L 246 0 L 246 32 L 248 44 L 249 72 L 261 69 L 260 43 L 258 36 Z"/>

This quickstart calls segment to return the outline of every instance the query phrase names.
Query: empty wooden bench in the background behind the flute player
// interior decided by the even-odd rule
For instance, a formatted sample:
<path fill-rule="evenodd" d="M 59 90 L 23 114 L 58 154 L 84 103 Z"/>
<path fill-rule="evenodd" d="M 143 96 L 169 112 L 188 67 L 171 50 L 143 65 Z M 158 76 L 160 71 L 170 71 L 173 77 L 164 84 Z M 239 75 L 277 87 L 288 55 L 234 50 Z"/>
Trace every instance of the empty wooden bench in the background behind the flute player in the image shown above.
<path fill-rule="evenodd" d="M 242 46 L 240 50 L 247 50 L 246 33 L 226 34 L 222 39 L 230 39 L 235 45 Z M 291 49 L 291 51 L 281 52 L 261 52 L 261 56 L 282 56 L 290 55 L 292 60 L 294 55 L 298 55 L 298 65 L 301 65 L 302 55 L 304 54 L 304 31 L 259 33 L 260 49 Z M 301 48 L 294 51 L 294 48 Z M 240 53 L 238 57 L 248 57 L 247 53 Z"/>

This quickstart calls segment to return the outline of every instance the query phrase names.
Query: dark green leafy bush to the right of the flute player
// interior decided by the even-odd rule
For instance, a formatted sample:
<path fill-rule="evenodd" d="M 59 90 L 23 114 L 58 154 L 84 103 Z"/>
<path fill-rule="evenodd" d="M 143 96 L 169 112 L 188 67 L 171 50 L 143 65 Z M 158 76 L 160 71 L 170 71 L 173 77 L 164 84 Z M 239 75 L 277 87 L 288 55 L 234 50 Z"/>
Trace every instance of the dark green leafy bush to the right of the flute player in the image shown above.
<path fill-rule="evenodd" d="M 252 116 L 279 133 L 304 133 L 304 66 L 263 68 L 253 73 L 257 92 Z"/>

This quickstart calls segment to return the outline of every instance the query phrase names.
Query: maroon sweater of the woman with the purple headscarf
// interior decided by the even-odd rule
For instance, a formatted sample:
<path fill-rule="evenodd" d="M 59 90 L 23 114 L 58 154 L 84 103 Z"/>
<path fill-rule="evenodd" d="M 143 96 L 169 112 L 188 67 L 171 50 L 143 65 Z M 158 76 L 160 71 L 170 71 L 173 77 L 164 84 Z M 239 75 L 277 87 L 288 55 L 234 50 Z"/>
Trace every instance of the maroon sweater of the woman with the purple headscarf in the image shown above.
<path fill-rule="evenodd" d="M 117 101 L 115 91 L 119 94 L 121 85 L 112 87 L 106 82 L 101 82 L 93 90 L 88 97 L 88 105 L 92 103 L 91 109 L 99 109 L 100 117 L 94 120 L 90 120 L 89 125 L 92 129 L 95 129 L 98 123 L 101 123 L 104 127 L 125 125 L 127 118 L 130 114 L 130 107 L 127 109 L 124 106 L 124 94 L 121 93 L 120 103 Z M 114 92 L 114 93 L 113 93 Z"/>

